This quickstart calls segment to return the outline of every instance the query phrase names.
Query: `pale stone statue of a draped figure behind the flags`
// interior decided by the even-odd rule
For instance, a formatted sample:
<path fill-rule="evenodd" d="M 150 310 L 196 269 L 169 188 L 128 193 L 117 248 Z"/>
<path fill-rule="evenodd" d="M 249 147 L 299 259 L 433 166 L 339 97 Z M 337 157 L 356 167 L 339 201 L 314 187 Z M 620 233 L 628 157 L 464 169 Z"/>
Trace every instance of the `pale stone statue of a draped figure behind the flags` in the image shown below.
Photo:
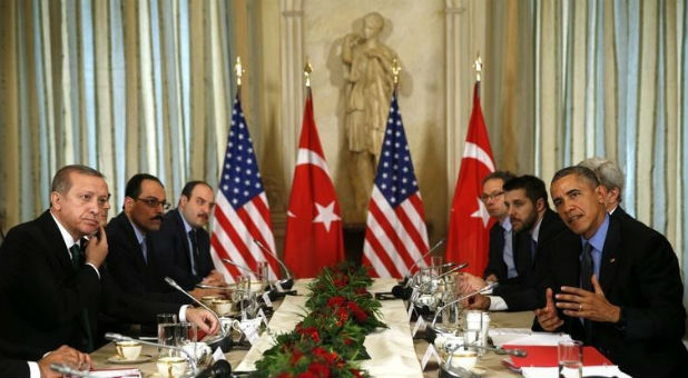
<path fill-rule="evenodd" d="M 384 18 L 368 13 L 363 18 L 363 32 L 347 34 L 342 43 L 347 166 L 355 206 L 347 222 L 365 222 L 394 89 L 392 66 L 396 53 L 379 40 L 383 28 Z"/>

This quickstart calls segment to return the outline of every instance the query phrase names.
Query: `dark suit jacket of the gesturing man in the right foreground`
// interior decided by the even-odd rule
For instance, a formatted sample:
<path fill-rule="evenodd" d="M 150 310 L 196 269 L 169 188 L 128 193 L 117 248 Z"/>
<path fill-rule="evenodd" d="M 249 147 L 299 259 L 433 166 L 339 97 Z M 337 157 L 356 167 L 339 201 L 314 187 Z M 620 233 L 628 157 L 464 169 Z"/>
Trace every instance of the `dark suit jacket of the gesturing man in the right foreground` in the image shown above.
<path fill-rule="evenodd" d="M 574 247 L 552 255 L 543 288 L 558 292 L 564 285 L 579 287 L 580 238 Z M 688 377 L 682 284 L 669 241 L 630 216 L 609 217 L 599 280 L 607 300 L 621 307 L 626 328 L 592 321 L 591 338 L 586 339 L 580 319 L 560 311 L 562 330 L 596 346 L 633 377 Z"/>

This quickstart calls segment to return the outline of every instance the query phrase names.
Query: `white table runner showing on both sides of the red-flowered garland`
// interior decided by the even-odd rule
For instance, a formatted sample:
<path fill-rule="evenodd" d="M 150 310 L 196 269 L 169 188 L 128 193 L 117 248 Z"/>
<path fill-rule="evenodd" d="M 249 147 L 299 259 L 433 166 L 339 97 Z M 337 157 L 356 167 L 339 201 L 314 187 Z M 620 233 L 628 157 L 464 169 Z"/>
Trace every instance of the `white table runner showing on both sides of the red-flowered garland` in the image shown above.
<path fill-rule="evenodd" d="M 395 284 L 393 279 L 377 279 L 371 291 L 390 291 Z M 261 336 L 236 370 L 255 370 L 255 362 L 274 345 L 273 336 L 293 330 L 302 316 L 307 314 L 305 282 L 297 282 L 296 289 L 299 296 L 284 299 L 269 321 L 269 332 Z M 371 359 L 362 361 L 361 367 L 373 377 L 422 377 L 403 301 L 384 300 L 381 312 L 382 321 L 390 328 L 367 335 L 364 346 Z"/>

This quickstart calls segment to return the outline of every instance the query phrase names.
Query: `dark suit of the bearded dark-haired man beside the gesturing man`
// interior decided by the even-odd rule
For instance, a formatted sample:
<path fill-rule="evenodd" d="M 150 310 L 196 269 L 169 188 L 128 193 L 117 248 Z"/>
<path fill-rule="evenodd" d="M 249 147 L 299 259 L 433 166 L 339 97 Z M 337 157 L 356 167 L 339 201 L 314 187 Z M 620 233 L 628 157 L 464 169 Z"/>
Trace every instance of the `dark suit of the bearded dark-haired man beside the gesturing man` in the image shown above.
<path fill-rule="evenodd" d="M 535 269 L 539 261 L 549 253 L 552 253 L 561 248 L 562 243 L 570 243 L 571 240 L 578 240 L 566 225 L 559 218 L 557 212 L 547 209 L 540 222 L 540 231 L 538 233 L 538 245 L 534 255 L 532 251 L 532 235 L 529 231 L 517 232 L 517 267 L 521 267 L 519 276 L 505 282 L 500 282 L 493 294 L 502 297 L 509 306 L 509 311 L 525 311 L 534 310 L 542 307 L 544 295 L 540 295 L 538 282 L 540 277 Z"/>

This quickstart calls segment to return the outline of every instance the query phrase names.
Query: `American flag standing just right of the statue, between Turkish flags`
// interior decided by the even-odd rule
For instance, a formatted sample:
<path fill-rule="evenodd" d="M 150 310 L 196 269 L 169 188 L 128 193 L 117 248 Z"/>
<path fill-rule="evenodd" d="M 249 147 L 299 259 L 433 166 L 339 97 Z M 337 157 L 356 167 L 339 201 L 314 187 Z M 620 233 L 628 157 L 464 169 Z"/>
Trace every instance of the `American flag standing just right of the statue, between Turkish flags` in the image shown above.
<path fill-rule="evenodd" d="M 395 91 L 368 206 L 363 262 L 379 277 L 402 277 L 426 251 L 425 211 Z M 425 257 L 419 266 L 427 262 Z"/>

